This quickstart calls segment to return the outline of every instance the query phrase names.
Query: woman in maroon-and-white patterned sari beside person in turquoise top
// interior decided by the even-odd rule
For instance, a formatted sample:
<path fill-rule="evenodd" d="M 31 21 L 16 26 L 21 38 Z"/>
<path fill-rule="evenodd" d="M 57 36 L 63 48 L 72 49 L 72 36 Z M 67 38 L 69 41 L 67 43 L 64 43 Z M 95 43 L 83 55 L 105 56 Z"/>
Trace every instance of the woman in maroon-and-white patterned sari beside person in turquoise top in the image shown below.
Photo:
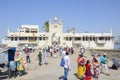
<path fill-rule="evenodd" d="M 93 64 L 94 77 L 98 78 L 98 76 L 100 74 L 100 61 L 99 61 L 97 53 L 95 53 L 95 55 L 92 59 L 92 64 Z"/>

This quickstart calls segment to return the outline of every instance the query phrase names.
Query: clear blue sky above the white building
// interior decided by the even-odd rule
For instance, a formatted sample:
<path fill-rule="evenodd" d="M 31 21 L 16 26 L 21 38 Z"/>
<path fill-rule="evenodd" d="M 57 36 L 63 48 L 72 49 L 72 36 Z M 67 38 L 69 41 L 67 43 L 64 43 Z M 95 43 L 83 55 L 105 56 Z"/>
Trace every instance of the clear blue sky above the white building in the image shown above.
<path fill-rule="evenodd" d="M 0 0 L 0 43 L 7 29 L 17 31 L 22 24 L 39 25 L 58 17 L 63 31 L 105 33 L 111 28 L 120 35 L 120 0 Z"/>

